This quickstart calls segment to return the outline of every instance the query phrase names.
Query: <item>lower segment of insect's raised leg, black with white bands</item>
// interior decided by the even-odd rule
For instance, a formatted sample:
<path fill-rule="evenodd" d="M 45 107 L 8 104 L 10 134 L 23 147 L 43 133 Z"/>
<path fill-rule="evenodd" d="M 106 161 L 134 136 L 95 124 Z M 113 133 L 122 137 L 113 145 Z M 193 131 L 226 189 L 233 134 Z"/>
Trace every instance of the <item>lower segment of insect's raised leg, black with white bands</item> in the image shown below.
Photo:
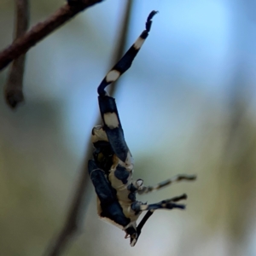
<path fill-rule="evenodd" d="M 98 94 L 100 96 L 105 96 L 106 91 L 105 88 L 108 86 L 108 84 L 113 83 L 119 77 L 125 73 L 127 69 L 131 67 L 131 63 L 136 57 L 139 49 L 141 49 L 144 41 L 146 38 L 148 38 L 148 32 L 150 31 L 151 24 L 152 24 L 152 18 L 156 14 L 156 11 L 152 11 L 148 15 L 148 19 L 146 22 L 146 29 L 141 33 L 139 38 L 137 38 L 137 41 L 131 45 L 131 48 L 127 50 L 125 55 L 119 60 L 117 64 L 113 66 L 113 68 L 108 72 L 106 77 L 102 80 L 102 83 L 98 87 Z"/>

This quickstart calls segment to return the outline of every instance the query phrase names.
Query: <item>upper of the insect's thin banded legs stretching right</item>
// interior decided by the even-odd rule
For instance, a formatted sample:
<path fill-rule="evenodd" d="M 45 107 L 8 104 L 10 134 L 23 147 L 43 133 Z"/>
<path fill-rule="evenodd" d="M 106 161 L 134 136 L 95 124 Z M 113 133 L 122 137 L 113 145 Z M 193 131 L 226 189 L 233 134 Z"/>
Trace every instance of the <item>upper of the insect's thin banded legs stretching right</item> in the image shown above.
<path fill-rule="evenodd" d="M 143 195 L 143 194 L 147 194 L 149 192 L 156 191 L 158 189 L 165 188 L 166 186 L 169 186 L 172 183 L 177 183 L 177 182 L 180 182 L 180 181 L 183 181 L 183 180 L 193 181 L 195 179 L 196 179 L 195 175 L 184 175 L 184 174 L 181 174 L 181 175 L 177 175 L 175 177 L 166 179 L 165 181 L 163 181 L 161 183 L 158 183 L 158 184 L 156 184 L 154 186 L 148 186 L 148 187 L 142 186 L 140 189 L 137 190 L 137 193 L 139 195 Z"/>

